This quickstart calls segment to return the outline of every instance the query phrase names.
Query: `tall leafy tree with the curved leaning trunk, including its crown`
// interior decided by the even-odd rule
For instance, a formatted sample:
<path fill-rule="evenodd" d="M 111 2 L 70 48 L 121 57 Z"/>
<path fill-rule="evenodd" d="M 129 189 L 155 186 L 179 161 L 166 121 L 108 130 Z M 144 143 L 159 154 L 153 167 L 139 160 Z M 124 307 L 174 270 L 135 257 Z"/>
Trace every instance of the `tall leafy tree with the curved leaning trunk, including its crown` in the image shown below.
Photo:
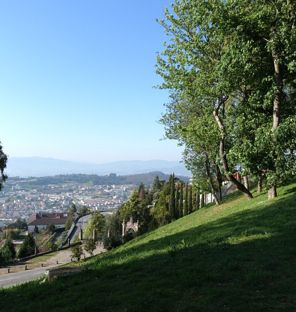
<path fill-rule="evenodd" d="M 227 47 L 217 25 L 225 12 L 224 3 L 176 0 L 171 7 L 173 14 L 166 8 L 167 21 L 160 21 L 166 34 L 172 36 L 171 43 L 162 53 L 164 57 L 157 59 L 157 73 L 164 78 L 160 88 L 181 92 L 187 101 L 198 102 L 203 111 L 212 106 L 220 130 L 219 153 L 225 175 L 247 199 L 251 199 L 251 193 L 233 177 L 225 148 L 225 111 L 232 85 L 224 83 L 219 66 Z"/>

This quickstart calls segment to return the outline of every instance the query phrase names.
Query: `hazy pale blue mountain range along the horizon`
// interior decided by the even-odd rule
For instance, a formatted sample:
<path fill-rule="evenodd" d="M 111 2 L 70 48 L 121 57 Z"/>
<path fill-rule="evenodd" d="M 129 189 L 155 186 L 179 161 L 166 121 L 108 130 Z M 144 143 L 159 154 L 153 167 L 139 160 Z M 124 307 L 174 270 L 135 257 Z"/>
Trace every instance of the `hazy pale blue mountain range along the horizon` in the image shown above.
<path fill-rule="evenodd" d="M 119 161 L 106 164 L 87 164 L 42 157 L 10 157 L 5 173 L 9 177 L 46 177 L 67 174 L 135 175 L 160 171 L 164 174 L 191 177 L 190 171 L 180 162 L 162 160 Z"/>

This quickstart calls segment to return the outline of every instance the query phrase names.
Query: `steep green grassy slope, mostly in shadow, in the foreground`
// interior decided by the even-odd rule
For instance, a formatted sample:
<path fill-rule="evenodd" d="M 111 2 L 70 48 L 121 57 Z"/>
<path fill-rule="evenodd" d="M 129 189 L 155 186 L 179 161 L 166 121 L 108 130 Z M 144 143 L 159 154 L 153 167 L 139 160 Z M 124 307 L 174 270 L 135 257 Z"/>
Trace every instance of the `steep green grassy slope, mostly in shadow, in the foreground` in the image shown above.
<path fill-rule="evenodd" d="M 255 189 L 253 188 L 253 192 Z M 296 310 L 296 182 L 238 192 L 85 262 L 55 282 L 0 291 L 8 311 Z"/>

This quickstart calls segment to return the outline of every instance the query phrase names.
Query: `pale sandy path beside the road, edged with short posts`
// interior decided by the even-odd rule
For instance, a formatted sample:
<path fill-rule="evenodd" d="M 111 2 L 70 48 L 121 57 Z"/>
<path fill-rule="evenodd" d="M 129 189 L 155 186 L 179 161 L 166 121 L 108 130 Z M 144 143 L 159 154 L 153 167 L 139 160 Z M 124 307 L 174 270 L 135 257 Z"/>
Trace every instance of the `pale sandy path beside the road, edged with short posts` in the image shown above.
<path fill-rule="evenodd" d="M 84 250 L 84 245 L 81 245 L 83 248 L 83 252 L 85 254 L 85 257 L 89 257 L 90 255 Z M 97 246 L 97 248 L 93 251 L 93 254 L 99 254 L 102 252 L 105 252 L 106 250 L 103 247 L 103 244 Z M 82 256 L 84 257 L 84 256 Z M 73 259 L 73 261 L 76 259 Z M 33 269 L 37 267 L 44 266 L 45 269 L 49 265 L 53 264 L 66 264 L 71 262 L 71 249 L 66 249 L 66 250 L 60 250 L 57 251 L 54 255 L 48 254 L 40 257 L 36 257 L 30 260 L 27 260 L 26 262 L 22 263 L 14 263 L 10 265 L 6 265 L 4 267 L 0 268 L 0 275 L 2 274 L 7 274 L 8 273 L 8 268 L 10 269 L 10 272 L 19 272 L 25 270 L 25 267 L 27 266 L 27 269 Z"/>

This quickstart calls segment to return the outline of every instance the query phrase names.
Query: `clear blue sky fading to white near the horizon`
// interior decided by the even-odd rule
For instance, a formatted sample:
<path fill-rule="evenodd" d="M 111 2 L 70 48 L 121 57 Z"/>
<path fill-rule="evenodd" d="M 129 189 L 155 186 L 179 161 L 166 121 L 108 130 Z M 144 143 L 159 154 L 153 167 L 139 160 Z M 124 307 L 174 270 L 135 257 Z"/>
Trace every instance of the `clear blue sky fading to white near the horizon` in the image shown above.
<path fill-rule="evenodd" d="M 172 0 L 0 0 L 0 140 L 10 157 L 179 161 L 152 88 Z"/>

